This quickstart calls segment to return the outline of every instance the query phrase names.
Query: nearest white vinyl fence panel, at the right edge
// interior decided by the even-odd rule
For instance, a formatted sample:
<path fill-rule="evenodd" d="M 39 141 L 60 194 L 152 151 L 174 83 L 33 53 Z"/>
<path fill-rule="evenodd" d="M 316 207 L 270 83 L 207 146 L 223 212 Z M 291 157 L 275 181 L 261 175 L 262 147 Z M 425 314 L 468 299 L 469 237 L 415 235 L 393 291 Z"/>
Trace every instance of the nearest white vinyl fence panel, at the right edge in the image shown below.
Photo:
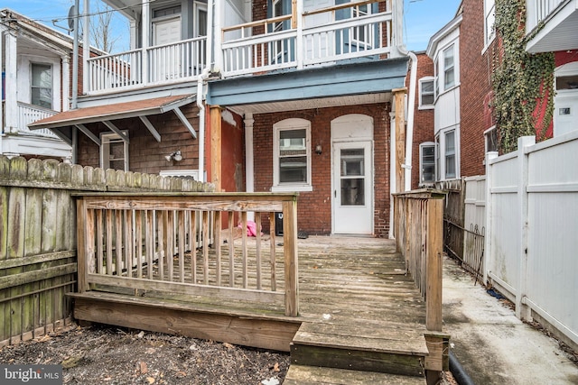
<path fill-rule="evenodd" d="M 578 341 L 578 135 L 528 150 L 527 304 Z M 572 137 L 574 139 L 572 140 Z M 547 144 L 547 146 L 545 146 Z"/>

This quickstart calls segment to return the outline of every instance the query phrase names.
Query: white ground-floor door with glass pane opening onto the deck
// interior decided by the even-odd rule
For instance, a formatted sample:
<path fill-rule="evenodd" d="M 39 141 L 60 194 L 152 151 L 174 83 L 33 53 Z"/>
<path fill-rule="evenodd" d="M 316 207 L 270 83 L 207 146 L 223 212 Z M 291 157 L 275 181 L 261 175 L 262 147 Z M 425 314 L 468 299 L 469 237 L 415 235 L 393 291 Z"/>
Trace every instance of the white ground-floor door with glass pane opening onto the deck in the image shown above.
<path fill-rule="evenodd" d="M 333 233 L 373 233 L 371 141 L 333 143 Z"/>

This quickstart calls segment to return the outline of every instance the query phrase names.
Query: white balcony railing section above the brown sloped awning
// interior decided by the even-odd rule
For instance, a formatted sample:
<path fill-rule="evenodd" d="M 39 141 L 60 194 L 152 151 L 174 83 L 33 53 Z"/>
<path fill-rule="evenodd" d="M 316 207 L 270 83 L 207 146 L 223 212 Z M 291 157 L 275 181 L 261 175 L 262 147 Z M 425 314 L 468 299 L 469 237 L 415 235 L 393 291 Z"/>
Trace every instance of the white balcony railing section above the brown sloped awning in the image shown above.
<path fill-rule="evenodd" d="M 205 69 L 205 37 L 87 60 L 89 94 L 193 80 Z"/>

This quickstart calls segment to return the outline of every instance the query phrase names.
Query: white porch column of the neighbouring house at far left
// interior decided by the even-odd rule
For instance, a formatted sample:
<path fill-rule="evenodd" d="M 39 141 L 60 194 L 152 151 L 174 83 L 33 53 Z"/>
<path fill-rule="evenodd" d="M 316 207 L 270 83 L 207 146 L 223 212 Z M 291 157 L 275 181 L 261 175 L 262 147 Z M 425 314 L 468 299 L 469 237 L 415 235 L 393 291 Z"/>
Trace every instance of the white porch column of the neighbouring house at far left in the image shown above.
<path fill-rule="evenodd" d="M 18 82 L 16 81 L 16 37 L 6 33 L 6 90 L 5 90 L 5 133 L 18 132 Z"/>

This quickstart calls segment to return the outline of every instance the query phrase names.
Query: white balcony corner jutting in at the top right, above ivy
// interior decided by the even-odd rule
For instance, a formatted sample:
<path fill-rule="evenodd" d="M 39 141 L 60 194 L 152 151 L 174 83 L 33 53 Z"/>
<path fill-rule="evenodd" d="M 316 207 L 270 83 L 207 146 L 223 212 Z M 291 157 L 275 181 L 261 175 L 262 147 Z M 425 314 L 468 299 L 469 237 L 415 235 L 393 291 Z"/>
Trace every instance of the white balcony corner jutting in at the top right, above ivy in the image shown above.
<path fill-rule="evenodd" d="M 527 0 L 526 12 L 528 52 L 578 49 L 578 0 Z"/>

